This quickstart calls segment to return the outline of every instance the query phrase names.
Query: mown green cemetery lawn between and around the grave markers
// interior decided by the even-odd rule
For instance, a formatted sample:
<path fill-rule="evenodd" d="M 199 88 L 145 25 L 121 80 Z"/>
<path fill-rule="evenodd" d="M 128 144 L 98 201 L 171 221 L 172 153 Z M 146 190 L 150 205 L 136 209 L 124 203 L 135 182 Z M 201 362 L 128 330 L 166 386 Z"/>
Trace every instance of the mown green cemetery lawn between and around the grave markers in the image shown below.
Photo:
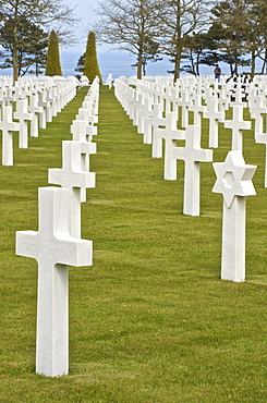
<path fill-rule="evenodd" d="M 201 166 L 201 216 L 184 216 L 183 162 L 178 181 L 163 181 L 163 160 L 150 158 L 107 86 L 90 156 L 97 186 L 82 206 L 94 265 L 70 268 L 70 375 L 35 374 L 37 262 L 15 256 L 15 231 L 37 231 L 38 187 L 61 167 L 61 142 L 86 93 L 28 149 L 15 135 L 14 166 L 0 166 L 0 402 L 266 402 L 265 146 L 244 133 L 245 161 L 258 167 L 257 196 L 246 202 L 246 281 L 221 281 L 222 196 L 211 193 L 211 163 Z M 214 161 L 224 160 L 230 133 L 220 125 Z"/>

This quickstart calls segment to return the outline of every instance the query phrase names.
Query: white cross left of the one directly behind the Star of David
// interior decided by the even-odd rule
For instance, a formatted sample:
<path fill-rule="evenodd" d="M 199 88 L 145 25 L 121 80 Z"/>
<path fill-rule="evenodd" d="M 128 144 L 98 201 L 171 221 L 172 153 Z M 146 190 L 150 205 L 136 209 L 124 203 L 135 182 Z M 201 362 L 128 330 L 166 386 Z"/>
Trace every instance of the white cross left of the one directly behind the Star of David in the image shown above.
<path fill-rule="evenodd" d="M 210 97 L 207 102 L 207 108 L 203 113 L 203 117 L 209 120 L 209 138 L 208 146 L 211 148 L 218 148 L 218 123 L 224 118 L 224 112 L 219 111 L 219 99 Z"/>

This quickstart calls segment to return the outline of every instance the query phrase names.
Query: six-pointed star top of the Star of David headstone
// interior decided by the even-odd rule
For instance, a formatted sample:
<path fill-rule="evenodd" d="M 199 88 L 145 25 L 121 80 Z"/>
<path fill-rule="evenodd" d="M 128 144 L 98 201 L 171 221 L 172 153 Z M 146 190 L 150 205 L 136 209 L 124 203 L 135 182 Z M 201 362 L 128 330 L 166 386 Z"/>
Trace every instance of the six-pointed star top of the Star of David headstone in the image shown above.
<path fill-rule="evenodd" d="M 229 151 L 224 162 L 214 162 L 213 166 L 217 176 L 213 192 L 222 193 L 228 208 L 234 196 L 256 194 L 252 178 L 257 167 L 246 164 L 240 150 Z"/>

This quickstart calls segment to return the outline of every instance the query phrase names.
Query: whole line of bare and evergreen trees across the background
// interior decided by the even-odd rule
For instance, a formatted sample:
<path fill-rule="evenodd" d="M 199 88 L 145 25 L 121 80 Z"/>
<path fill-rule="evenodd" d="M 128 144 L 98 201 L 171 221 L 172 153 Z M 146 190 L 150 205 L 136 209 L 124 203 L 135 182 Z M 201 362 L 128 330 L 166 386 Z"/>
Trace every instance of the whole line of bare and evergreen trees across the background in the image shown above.
<path fill-rule="evenodd" d="M 64 0 L 0 0 L 0 68 L 14 80 L 43 72 L 51 28 L 61 44 L 74 41 L 74 10 Z M 174 80 L 221 61 L 253 76 L 259 59 L 267 72 L 267 0 L 101 0 L 95 12 L 97 40 L 133 53 L 138 78 L 162 56 Z M 78 64 L 82 72 L 83 57 Z"/>

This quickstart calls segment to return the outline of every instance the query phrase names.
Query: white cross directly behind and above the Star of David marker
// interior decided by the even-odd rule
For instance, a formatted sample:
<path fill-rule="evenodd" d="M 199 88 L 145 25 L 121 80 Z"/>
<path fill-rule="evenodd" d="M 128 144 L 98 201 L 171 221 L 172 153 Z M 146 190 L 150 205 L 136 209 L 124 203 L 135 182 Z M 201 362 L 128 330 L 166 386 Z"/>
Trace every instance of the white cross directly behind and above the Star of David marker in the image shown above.
<path fill-rule="evenodd" d="M 232 130 L 232 150 L 243 149 L 243 130 L 251 130 L 252 123 L 243 120 L 243 105 L 232 105 L 232 120 L 226 120 L 226 129 Z"/>

